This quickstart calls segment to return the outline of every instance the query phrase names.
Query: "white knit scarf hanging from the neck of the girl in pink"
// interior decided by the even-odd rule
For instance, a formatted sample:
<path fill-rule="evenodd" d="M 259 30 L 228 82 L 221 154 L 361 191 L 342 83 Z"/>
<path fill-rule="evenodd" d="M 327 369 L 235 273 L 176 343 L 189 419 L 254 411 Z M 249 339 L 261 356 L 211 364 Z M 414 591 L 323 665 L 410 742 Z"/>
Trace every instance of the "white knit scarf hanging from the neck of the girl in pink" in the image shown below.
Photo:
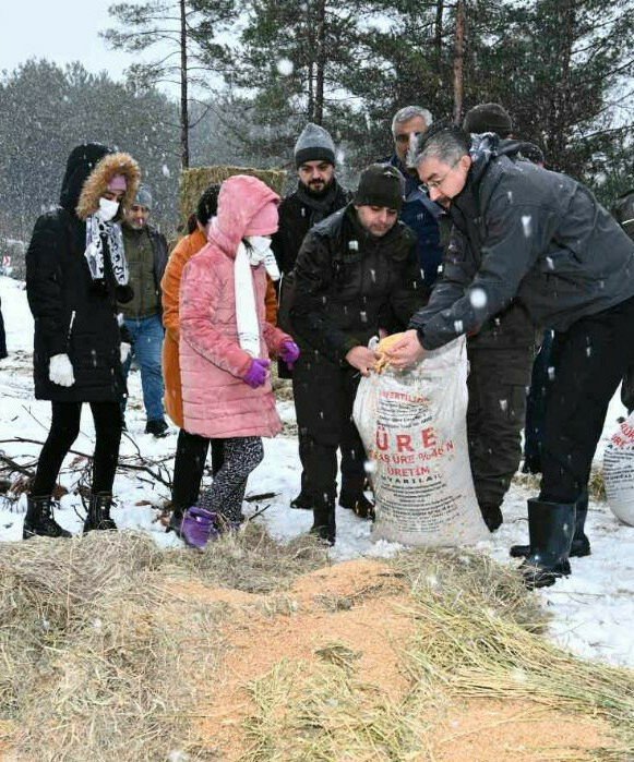
<path fill-rule="evenodd" d="M 242 241 L 234 263 L 234 287 L 236 290 L 236 326 L 240 347 L 252 358 L 260 355 L 260 320 L 255 306 L 253 268 L 264 263 L 266 271 L 274 279 L 279 270 L 271 249 L 247 247 Z"/>

